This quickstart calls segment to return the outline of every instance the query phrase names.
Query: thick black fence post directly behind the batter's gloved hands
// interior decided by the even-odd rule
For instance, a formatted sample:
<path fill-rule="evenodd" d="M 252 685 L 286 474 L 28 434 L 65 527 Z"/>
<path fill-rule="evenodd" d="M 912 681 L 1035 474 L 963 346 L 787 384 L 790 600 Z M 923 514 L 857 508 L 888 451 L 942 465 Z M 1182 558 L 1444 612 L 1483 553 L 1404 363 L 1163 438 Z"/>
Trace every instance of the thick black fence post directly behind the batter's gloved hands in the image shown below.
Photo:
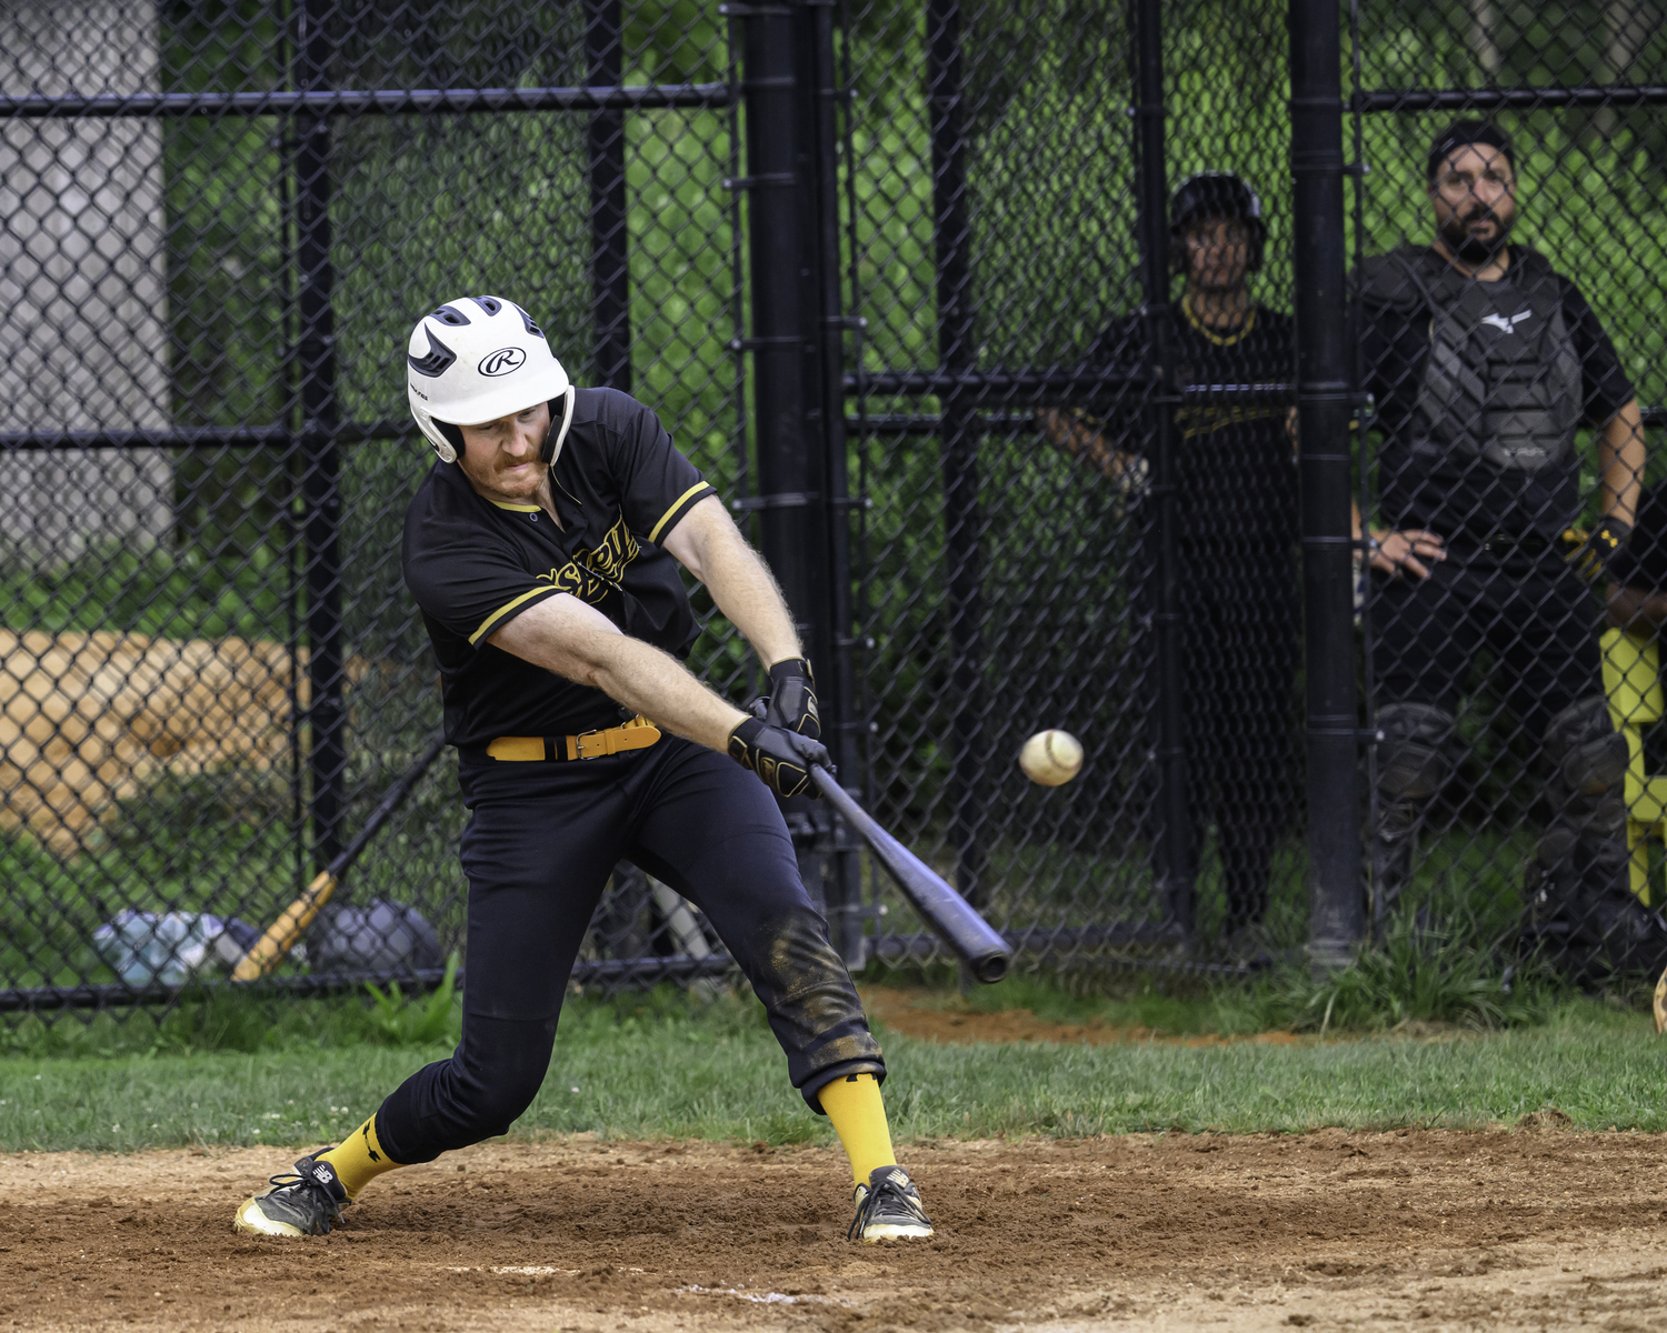
<path fill-rule="evenodd" d="M 839 252 L 825 252 L 823 155 L 832 153 L 832 120 L 823 123 L 818 77 L 832 77 L 832 28 L 807 5 L 735 5 L 742 22 L 742 93 L 747 110 L 747 252 L 752 280 L 753 430 L 757 490 L 743 502 L 758 515 L 760 547 L 793 610 L 812 665 L 823 673 L 822 725 L 835 761 L 847 761 L 849 588 L 847 628 L 837 630 L 832 528 L 835 487 L 844 478 L 844 398 L 839 362 L 823 365 L 828 320 L 823 310 L 827 268 L 834 268 L 837 310 Z M 827 58 L 820 58 L 820 42 Z M 825 140 L 825 142 L 823 142 Z M 827 200 L 832 208 L 832 197 Z M 837 333 L 837 327 L 835 327 Z M 837 338 L 834 345 L 837 355 Z M 839 422 L 839 440 L 830 422 Z M 837 463 L 830 450 L 840 450 Z M 842 645 L 840 640 L 845 640 Z M 855 776 L 855 763 L 845 780 Z M 832 815 L 820 801 L 797 796 L 783 805 L 798 846 L 807 886 L 828 908 L 835 946 L 852 965 L 864 961 L 855 861 L 837 850 Z"/>

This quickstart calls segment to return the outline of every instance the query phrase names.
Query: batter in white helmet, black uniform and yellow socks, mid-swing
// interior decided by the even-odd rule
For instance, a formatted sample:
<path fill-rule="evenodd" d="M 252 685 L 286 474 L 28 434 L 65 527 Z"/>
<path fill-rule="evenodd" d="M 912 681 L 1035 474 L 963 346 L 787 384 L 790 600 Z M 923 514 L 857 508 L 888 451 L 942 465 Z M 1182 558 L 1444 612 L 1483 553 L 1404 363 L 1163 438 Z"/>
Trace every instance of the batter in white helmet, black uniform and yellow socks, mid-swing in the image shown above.
<path fill-rule="evenodd" d="M 625 858 L 707 913 L 763 1001 L 788 1078 L 850 1158 L 849 1235 L 930 1236 L 892 1153 L 880 1046 L 775 801 L 813 795 L 808 768 L 828 756 L 770 572 L 658 418 L 568 383 L 512 302 L 425 315 L 407 383 L 440 460 L 405 515 L 405 582 L 472 811 L 463 1038 L 347 1141 L 273 1176 L 237 1230 L 327 1233 L 383 1171 L 505 1133 L 543 1081 L 568 971 Z M 697 625 L 678 563 L 768 666 L 762 716 L 682 665 Z"/>

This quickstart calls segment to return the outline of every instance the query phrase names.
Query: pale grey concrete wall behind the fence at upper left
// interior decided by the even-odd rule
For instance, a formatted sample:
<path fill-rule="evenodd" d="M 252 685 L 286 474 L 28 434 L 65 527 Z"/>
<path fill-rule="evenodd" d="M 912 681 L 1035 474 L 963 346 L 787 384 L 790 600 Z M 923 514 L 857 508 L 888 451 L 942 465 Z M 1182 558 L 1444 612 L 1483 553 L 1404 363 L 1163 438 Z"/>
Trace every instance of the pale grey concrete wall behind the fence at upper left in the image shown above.
<path fill-rule="evenodd" d="M 158 88 L 152 0 L 0 0 L 0 93 Z M 168 425 L 162 128 L 0 120 L 0 435 Z M 67 560 L 172 523 L 162 450 L 7 452 L 0 545 Z"/>

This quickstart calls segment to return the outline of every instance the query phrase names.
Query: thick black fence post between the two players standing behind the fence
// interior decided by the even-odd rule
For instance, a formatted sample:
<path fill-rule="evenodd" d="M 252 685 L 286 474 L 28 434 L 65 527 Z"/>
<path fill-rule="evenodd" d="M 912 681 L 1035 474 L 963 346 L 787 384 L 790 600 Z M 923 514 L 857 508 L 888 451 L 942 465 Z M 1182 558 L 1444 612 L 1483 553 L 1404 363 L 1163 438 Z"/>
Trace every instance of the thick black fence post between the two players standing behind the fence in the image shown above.
<path fill-rule="evenodd" d="M 1340 966 L 1365 925 L 1345 338 L 1342 33 L 1335 0 L 1290 0 L 1290 168 L 1302 440 L 1309 750 L 1309 951 Z"/>

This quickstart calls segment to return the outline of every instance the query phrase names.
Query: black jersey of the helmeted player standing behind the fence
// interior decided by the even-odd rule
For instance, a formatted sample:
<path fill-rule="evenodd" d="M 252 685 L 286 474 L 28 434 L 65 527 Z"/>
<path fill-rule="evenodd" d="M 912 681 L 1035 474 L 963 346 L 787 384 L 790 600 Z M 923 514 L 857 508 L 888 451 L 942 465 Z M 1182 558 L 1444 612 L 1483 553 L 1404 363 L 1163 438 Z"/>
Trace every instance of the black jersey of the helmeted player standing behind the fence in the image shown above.
<path fill-rule="evenodd" d="M 1180 452 L 1175 467 L 1182 537 L 1265 538 L 1297 535 L 1297 465 L 1285 420 L 1289 403 L 1245 393 L 1210 395 L 1210 387 L 1292 383 L 1297 372 L 1295 322 L 1267 307 L 1252 307 L 1244 327 L 1219 333 L 1194 318 L 1185 302 L 1174 307 L 1175 372 L 1184 388 L 1200 390 L 1175 410 Z M 1090 365 L 1137 368 L 1144 360 L 1145 323 L 1115 320 L 1094 345 Z M 1150 453 L 1137 403 L 1125 397 L 1105 413 L 1102 432 L 1125 453 Z M 1120 422 L 1120 432 L 1109 432 Z"/>

